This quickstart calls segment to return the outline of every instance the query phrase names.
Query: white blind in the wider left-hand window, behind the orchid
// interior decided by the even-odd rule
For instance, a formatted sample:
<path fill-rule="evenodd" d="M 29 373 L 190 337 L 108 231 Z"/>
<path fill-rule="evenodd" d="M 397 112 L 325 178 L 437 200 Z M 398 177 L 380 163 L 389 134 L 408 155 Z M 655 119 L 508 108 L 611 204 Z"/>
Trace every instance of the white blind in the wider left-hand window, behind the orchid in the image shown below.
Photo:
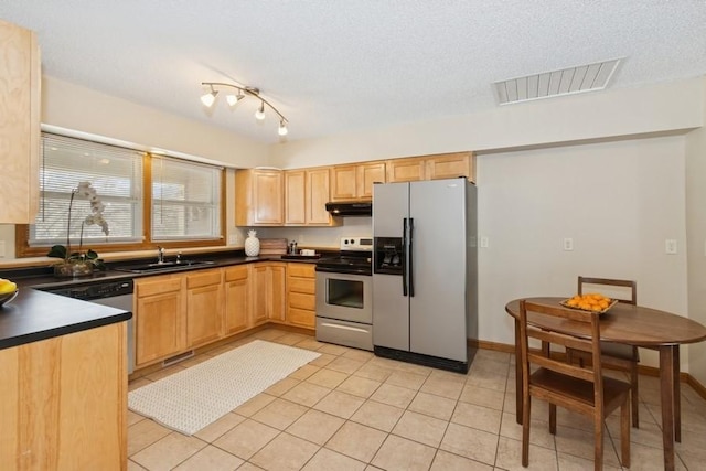
<path fill-rule="evenodd" d="M 42 133 L 40 211 L 30 226 L 30 246 L 78 246 L 82 222 L 89 202 L 75 196 L 71 228 L 71 195 L 81 182 L 89 182 L 106 208 L 109 235 L 100 226 L 84 225 L 83 245 L 142 240 L 142 159 L 135 150 L 51 133 Z"/>

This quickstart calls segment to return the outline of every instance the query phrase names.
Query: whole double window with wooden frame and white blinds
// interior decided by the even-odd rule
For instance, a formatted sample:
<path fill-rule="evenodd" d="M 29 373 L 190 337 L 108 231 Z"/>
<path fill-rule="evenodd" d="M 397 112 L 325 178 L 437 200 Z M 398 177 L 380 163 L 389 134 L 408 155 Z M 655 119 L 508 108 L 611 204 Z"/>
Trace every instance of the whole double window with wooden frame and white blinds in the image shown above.
<path fill-rule="evenodd" d="M 40 211 L 34 224 L 15 226 L 18 257 L 66 245 L 69 217 L 74 249 L 79 239 L 100 254 L 223 244 L 223 168 L 47 132 L 41 151 Z M 89 201 L 76 194 L 71 203 L 82 182 L 105 205 L 108 236 L 82 224 Z"/>

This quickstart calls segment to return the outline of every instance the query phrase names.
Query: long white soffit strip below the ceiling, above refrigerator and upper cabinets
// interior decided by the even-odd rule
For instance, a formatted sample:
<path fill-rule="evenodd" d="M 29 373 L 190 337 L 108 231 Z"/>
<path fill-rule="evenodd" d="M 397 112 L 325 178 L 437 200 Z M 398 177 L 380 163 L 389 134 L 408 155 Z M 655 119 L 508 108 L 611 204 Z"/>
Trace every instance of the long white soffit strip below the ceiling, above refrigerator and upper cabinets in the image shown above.
<path fill-rule="evenodd" d="M 325 165 L 454 151 L 546 147 L 694 129 L 704 110 L 702 79 L 507 105 L 490 111 L 271 148 L 280 168 Z"/>

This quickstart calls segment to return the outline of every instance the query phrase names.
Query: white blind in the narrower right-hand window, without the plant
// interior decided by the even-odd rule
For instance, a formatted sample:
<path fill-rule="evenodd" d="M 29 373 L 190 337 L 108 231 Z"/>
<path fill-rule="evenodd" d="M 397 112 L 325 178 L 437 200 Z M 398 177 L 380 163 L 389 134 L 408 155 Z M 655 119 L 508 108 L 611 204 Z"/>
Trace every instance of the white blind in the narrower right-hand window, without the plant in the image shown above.
<path fill-rule="evenodd" d="M 220 167 L 152 159 L 152 240 L 221 238 Z"/>

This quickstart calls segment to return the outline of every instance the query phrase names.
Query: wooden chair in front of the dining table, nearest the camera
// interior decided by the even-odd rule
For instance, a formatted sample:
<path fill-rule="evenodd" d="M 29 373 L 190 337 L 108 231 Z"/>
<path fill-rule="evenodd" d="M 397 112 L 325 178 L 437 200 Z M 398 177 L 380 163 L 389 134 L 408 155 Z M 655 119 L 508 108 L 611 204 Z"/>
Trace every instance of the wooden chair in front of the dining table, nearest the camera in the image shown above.
<path fill-rule="evenodd" d="M 528 320 L 528 312 L 532 319 Z M 541 314 L 541 315 L 539 315 Z M 587 338 L 590 335 L 590 338 Z M 559 344 L 591 356 L 590 365 L 552 358 L 530 350 L 530 339 Z M 556 406 L 593 419 L 595 469 L 603 465 L 603 421 L 620 407 L 621 462 L 630 467 L 630 384 L 602 376 L 599 317 L 591 312 L 520 302 L 522 362 L 522 465 L 530 465 L 532 397 L 549 403 L 549 432 L 556 435 Z M 532 372 L 533 366 L 538 368 Z"/>

